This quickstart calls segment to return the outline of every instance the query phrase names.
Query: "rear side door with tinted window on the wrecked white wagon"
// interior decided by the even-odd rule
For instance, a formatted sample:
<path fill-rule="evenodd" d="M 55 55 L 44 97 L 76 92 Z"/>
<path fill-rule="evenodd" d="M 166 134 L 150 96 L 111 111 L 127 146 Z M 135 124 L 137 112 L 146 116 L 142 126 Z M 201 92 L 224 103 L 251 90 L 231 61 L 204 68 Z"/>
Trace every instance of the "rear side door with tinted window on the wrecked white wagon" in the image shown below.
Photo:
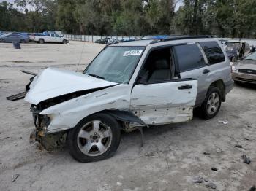
<path fill-rule="evenodd" d="M 208 75 L 210 66 L 197 43 L 180 44 L 173 47 L 176 55 L 176 63 L 182 78 L 197 79 L 197 98 L 195 106 L 200 104 L 204 98 L 209 85 Z"/>

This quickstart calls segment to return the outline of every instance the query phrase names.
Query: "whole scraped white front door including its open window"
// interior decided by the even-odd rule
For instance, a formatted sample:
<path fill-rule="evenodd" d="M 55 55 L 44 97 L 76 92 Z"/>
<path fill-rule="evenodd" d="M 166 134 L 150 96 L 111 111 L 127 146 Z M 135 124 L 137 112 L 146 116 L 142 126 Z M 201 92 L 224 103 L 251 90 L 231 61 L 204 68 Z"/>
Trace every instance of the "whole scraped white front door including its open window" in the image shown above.
<path fill-rule="evenodd" d="M 167 50 L 165 47 L 162 51 L 157 50 L 157 53 L 154 50 L 149 53 L 140 71 L 150 74 L 146 77 L 148 81 L 137 80 L 132 89 L 130 110 L 147 125 L 192 120 L 197 97 L 197 79 L 178 79 L 176 71 L 172 71 L 175 70 L 172 65 L 173 55 L 168 55 L 168 51 L 170 48 Z M 165 63 L 170 61 L 170 66 L 165 66 L 163 62 L 159 63 L 163 60 Z M 155 64 L 158 66 L 154 66 Z M 153 79 L 154 77 L 157 80 Z"/>

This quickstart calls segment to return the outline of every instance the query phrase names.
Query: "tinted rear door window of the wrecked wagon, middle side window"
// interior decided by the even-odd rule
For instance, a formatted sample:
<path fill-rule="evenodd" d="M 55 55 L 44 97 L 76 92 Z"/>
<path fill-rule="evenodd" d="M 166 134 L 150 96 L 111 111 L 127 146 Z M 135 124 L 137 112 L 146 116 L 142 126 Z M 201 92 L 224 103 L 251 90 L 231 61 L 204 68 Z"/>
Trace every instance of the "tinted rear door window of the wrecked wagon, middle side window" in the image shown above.
<path fill-rule="evenodd" d="M 197 44 L 184 44 L 174 47 L 180 71 L 188 71 L 206 66 L 203 55 Z"/>

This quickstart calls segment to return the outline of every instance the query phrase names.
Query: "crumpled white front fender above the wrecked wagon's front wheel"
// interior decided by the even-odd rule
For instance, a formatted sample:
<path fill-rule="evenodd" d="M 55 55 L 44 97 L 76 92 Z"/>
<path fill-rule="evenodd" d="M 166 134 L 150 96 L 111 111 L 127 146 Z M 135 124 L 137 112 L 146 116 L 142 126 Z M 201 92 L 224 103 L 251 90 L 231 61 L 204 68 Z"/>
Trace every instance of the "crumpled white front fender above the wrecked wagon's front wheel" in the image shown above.
<path fill-rule="evenodd" d="M 65 101 L 40 114 L 48 114 L 51 118 L 48 132 L 73 128 L 84 117 L 105 109 L 129 110 L 131 89 L 131 85 L 116 85 Z"/>

